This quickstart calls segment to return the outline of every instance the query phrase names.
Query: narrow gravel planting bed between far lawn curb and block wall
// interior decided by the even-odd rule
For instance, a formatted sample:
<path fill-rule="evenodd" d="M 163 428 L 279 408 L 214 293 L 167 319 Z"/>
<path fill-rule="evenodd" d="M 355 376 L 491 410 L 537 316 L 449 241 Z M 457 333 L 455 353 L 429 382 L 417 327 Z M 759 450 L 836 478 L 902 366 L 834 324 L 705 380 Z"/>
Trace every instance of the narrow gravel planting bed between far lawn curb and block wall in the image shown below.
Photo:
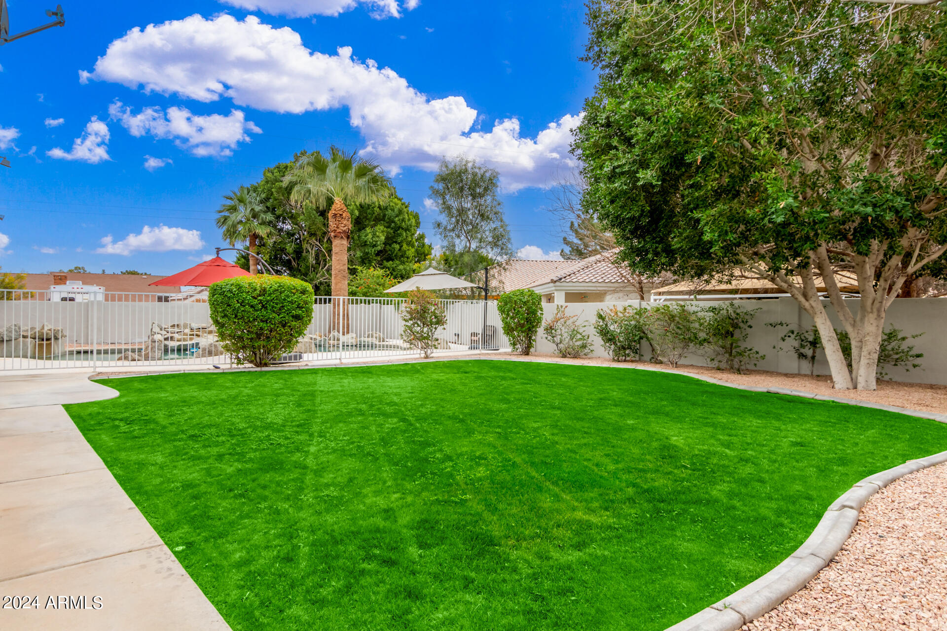
<path fill-rule="evenodd" d="M 556 355 L 534 354 L 528 357 L 519 355 L 507 356 L 512 359 L 559 359 L 585 364 L 613 364 L 616 366 L 642 366 L 660 368 L 662 370 L 676 370 L 682 373 L 694 373 L 714 377 L 721 381 L 729 381 L 743 386 L 763 386 L 767 388 L 792 388 L 807 393 L 839 396 L 842 398 L 871 401 L 884 405 L 894 405 L 911 410 L 924 412 L 947 413 L 947 386 L 931 385 L 927 383 L 902 383 L 900 381 L 878 381 L 878 390 L 835 390 L 832 388 L 831 377 L 810 375 L 787 375 L 773 373 L 768 370 L 750 370 L 744 375 L 734 375 L 723 370 L 707 366 L 690 366 L 680 364 L 671 368 L 668 364 L 656 364 L 650 361 L 616 362 L 607 358 L 560 359 Z"/>

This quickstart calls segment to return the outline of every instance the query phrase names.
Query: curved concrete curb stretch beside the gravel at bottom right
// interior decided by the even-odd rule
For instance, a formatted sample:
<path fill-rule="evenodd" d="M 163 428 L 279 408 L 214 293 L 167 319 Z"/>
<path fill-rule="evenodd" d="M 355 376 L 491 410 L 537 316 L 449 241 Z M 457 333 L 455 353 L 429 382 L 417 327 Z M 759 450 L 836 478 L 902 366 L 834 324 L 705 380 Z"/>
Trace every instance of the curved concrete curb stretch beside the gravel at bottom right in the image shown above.
<path fill-rule="evenodd" d="M 665 631 L 738 631 L 805 587 L 842 550 L 868 498 L 920 469 L 947 463 L 947 451 L 868 476 L 832 502 L 813 534 L 789 558 L 746 587 Z"/>

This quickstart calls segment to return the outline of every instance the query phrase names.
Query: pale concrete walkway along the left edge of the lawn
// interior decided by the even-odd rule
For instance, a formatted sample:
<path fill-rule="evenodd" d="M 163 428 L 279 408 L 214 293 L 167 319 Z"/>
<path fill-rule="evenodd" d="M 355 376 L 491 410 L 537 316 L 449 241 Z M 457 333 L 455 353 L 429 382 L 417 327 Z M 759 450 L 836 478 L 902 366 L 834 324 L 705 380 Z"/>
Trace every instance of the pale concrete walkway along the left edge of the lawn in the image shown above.
<path fill-rule="evenodd" d="M 0 376 L 0 629 L 229 629 L 63 410 L 89 375 Z"/>

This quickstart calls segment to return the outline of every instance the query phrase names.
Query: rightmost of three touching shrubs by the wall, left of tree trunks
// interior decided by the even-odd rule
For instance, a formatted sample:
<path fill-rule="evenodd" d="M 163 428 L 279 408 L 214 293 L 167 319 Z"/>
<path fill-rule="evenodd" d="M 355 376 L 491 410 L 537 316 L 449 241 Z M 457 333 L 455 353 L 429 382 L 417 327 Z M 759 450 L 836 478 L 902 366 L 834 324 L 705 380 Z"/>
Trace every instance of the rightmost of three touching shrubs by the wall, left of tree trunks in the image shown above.
<path fill-rule="evenodd" d="M 756 349 L 744 345 L 753 328 L 750 321 L 759 307 L 744 309 L 734 303 L 718 303 L 698 309 L 701 324 L 700 350 L 707 362 L 718 370 L 729 370 L 738 375 L 750 364 L 756 366 L 766 359 Z"/>

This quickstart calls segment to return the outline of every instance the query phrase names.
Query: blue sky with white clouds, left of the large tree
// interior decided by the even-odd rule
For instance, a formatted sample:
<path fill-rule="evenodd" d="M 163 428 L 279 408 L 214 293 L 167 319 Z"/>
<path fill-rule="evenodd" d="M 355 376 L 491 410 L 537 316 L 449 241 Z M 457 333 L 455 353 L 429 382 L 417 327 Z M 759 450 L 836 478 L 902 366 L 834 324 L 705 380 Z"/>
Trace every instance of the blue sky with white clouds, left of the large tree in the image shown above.
<path fill-rule="evenodd" d="M 8 5 L 11 33 L 48 21 Z M 0 46 L 4 271 L 178 272 L 224 245 L 223 194 L 331 144 L 395 173 L 435 244 L 433 171 L 466 153 L 500 171 L 514 249 L 561 246 L 547 188 L 575 166 L 595 81 L 580 0 L 63 9 L 63 28 Z"/>

